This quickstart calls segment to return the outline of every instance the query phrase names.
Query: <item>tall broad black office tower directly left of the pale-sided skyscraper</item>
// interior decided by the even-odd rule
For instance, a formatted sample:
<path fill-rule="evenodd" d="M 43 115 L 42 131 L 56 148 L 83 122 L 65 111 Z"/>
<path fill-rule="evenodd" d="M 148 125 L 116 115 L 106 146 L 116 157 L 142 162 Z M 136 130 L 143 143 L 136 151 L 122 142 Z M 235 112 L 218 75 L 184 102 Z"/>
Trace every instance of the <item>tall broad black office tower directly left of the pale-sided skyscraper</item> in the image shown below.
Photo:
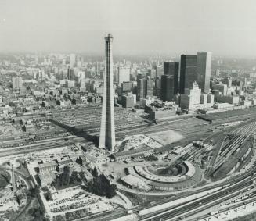
<path fill-rule="evenodd" d="M 197 55 L 182 55 L 180 62 L 179 93 L 184 94 L 185 88 L 191 88 L 197 80 Z"/>

